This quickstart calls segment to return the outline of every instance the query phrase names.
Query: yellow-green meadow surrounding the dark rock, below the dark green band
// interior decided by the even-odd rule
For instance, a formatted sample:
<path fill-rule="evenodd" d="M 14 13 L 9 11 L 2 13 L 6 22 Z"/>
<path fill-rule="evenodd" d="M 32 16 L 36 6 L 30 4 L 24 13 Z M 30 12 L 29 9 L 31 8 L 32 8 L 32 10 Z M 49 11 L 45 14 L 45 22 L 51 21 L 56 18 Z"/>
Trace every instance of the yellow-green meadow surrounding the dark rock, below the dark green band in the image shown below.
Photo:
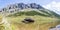
<path fill-rule="evenodd" d="M 21 21 L 24 20 L 24 18 L 26 17 L 30 17 L 34 19 L 35 22 L 31 24 L 22 23 Z M 12 16 L 12 17 L 7 17 L 7 19 L 15 27 L 15 29 L 18 30 L 24 30 L 24 29 L 25 30 L 48 30 L 50 27 L 54 27 L 60 24 L 58 18 L 44 17 L 39 15 L 35 15 L 35 16 L 21 15 L 17 17 Z"/>

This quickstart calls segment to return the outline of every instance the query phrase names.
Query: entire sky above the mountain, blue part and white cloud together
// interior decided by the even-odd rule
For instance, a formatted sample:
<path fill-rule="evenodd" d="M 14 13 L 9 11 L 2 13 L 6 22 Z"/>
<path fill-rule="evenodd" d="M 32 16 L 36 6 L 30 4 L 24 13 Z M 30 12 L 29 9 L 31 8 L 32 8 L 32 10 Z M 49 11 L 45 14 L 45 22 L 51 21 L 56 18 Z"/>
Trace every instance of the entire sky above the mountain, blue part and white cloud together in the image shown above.
<path fill-rule="evenodd" d="M 37 3 L 46 9 L 60 14 L 60 0 L 0 0 L 0 8 L 15 3 Z"/>

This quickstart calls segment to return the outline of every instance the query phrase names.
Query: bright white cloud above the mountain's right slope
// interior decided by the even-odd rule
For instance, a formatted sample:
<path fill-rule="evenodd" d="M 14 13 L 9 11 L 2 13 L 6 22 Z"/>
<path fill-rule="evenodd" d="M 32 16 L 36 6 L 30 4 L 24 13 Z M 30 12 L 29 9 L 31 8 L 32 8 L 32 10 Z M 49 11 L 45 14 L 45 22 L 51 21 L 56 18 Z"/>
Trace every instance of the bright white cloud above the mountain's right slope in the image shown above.
<path fill-rule="evenodd" d="M 52 1 L 51 3 L 44 5 L 43 7 L 60 14 L 60 2 Z"/>

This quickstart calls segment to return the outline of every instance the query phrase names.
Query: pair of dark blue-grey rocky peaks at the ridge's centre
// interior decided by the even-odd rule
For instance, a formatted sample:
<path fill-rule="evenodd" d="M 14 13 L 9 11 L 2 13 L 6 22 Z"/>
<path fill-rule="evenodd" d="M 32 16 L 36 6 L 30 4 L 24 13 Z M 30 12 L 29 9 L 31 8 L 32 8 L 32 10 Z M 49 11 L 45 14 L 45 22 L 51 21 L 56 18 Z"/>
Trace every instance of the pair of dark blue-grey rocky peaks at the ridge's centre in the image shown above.
<path fill-rule="evenodd" d="M 24 4 L 24 3 L 19 3 L 17 8 L 33 8 L 33 9 L 40 9 L 43 8 L 42 6 L 36 4 L 36 3 L 31 3 L 31 4 Z"/>

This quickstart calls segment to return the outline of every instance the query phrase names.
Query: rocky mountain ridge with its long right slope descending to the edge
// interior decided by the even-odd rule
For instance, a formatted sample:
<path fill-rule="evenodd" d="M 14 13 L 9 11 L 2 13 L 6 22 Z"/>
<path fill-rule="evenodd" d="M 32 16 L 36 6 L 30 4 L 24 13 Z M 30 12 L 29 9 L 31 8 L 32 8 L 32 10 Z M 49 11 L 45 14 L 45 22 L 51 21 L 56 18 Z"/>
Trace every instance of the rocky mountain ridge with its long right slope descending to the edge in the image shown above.
<path fill-rule="evenodd" d="M 2 11 L 0 12 L 16 13 L 20 11 L 32 11 L 32 10 L 39 12 L 40 13 L 40 14 L 38 13 L 39 15 L 60 17 L 60 15 L 56 14 L 55 12 L 45 9 L 41 5 L 36 3 L 30 3 L 30 4 L 17 3 L 8 5 L 7 7 L 3 8 Z"/>

